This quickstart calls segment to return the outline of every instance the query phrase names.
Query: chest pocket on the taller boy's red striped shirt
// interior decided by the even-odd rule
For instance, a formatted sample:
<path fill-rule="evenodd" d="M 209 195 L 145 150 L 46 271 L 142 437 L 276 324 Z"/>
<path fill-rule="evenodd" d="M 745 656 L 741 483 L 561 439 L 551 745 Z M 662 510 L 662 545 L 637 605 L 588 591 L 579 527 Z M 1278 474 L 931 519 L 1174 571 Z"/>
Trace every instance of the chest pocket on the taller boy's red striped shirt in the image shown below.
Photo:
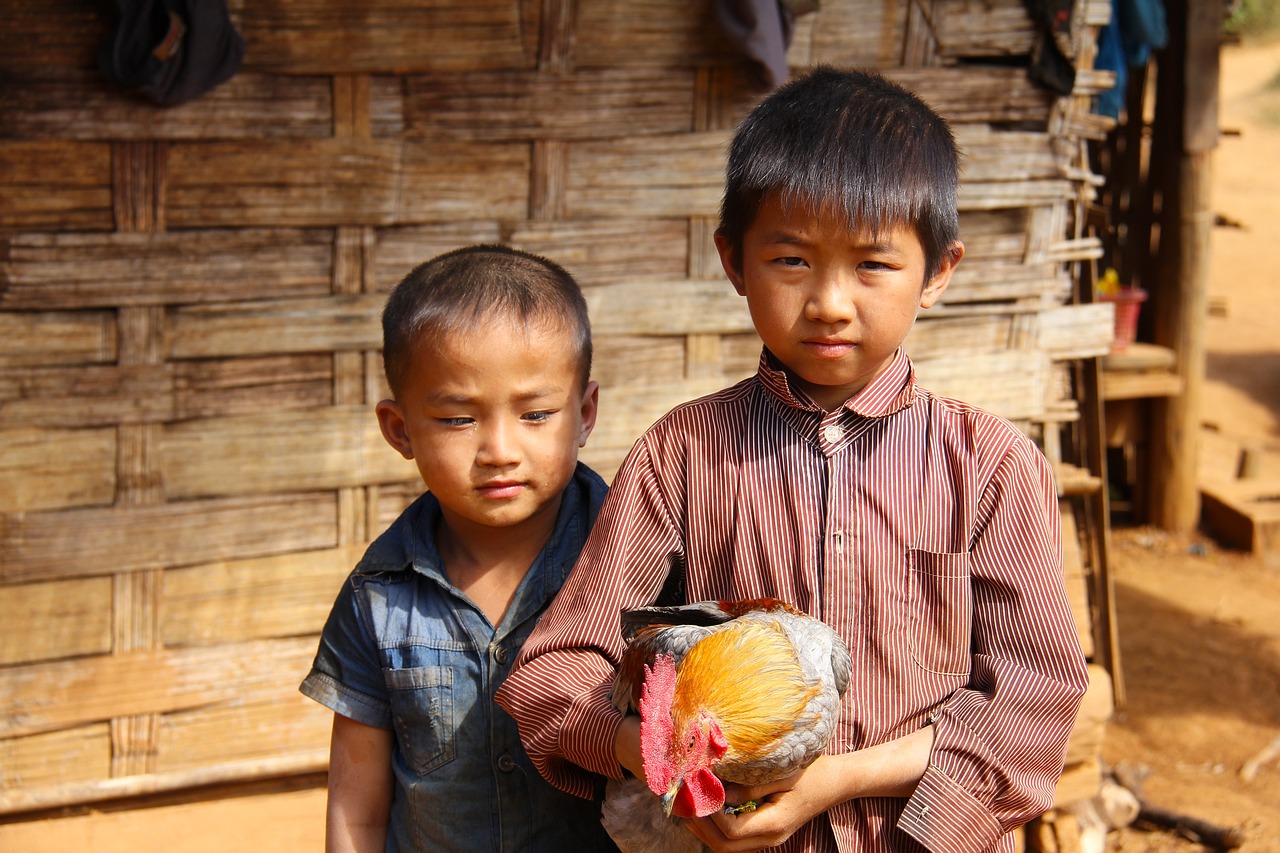
<path fill-rule="evenodd" d="M 911 657 L 924 670 L 968 675 L 973 665 L 973 589 L 965 553 L 908 552 Z"/>

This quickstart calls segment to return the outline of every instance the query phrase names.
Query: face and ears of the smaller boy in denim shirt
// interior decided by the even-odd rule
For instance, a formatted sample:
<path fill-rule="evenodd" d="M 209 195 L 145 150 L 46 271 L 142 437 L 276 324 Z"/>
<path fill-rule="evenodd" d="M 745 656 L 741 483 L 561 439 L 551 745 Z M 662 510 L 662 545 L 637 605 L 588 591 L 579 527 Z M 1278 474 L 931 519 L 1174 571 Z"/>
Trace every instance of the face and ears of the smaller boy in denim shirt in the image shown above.
<path fill-rule="evenodd" d="M 453 535 L 554 526 L 599 387 L 581 387 L 568 329 L 511 318 L 440 336 L 415 353 L 397 400 L 378 403 L 388 443 L 417 462 Z"/>

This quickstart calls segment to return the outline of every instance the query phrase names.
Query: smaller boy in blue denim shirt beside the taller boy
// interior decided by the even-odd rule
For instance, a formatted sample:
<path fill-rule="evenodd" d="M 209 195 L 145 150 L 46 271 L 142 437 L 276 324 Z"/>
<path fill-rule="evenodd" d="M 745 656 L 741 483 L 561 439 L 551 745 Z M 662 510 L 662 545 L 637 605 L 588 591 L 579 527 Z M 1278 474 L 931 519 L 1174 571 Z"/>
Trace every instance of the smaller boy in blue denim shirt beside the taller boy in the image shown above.
<path fill-rule="evenodd" d="M 591 330 L 543 257 L 471 246 L 383 311 L 383 437 L 428 492 L 338 594 L 302 692 L 334 711 L 326 849 L 611 850 L 590 800 L 548 785 L 493 693 L 604 498 Z"/>

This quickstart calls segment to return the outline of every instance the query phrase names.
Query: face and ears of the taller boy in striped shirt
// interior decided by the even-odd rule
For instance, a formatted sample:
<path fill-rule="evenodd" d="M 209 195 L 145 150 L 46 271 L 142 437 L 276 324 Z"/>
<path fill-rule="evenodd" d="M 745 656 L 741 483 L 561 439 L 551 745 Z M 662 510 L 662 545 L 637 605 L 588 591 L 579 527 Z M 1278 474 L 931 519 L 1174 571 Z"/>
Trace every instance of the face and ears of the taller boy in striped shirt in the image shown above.
<path fill-rule="evenodd" d="M 828 411 L 892 361 L 916 311 L 938 300 L 964 255 L 956 243 L 925 282 L 924 247 L 911 228 L 851 233 L 842 216 L 785 210 L 776 193 L 746 229 L 740 264 L 719 234 L 716 247 L 764 346 Z"/>

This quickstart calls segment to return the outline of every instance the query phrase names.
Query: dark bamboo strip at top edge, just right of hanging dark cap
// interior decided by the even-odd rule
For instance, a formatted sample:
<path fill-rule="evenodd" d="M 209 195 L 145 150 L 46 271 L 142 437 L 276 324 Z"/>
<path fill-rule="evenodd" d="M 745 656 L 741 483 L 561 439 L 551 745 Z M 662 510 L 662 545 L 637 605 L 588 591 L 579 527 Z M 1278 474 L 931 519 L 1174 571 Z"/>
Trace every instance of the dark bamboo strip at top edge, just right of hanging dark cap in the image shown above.
<path fill-rule="evenodd" d="M 538 5 L 530 0 L 326 0 L 246 4 L 253 67 L 283 74 L 484 72 L 532 68 Z"/>

